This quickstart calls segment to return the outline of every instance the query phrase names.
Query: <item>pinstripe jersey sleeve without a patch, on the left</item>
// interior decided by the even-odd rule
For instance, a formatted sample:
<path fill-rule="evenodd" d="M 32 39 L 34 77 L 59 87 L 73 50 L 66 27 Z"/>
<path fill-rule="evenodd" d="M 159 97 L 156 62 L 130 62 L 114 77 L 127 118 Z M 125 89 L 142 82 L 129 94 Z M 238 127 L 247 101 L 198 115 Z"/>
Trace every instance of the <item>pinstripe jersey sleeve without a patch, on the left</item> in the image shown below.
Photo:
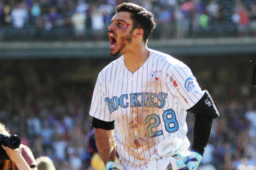
<path fill-rule="evenodd" d="M 99 75 L 94 87 L 89 115 L 102 121 L 111 122 L 114 121 L 114 118 L 111 116 L 106 105 L 106 90 L 104 90 L 102 82 Z"/>

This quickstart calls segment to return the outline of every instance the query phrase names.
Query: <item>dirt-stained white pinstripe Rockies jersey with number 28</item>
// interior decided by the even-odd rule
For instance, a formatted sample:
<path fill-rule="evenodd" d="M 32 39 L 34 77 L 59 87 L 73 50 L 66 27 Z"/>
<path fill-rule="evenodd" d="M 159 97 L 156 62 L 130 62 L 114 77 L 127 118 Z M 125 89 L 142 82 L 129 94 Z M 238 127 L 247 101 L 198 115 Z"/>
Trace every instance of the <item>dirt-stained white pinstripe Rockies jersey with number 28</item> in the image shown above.
<path fill-rule="evenodd" d="M 98 75 L 90 115 L 115 120 L 114 141 L 126 170 L 147 169 L 157 145 L 186 137 L 186 110 L 204 95 L 191 70 L 181 61 L 150 49 L 135 73 L 121 56 Z"/>

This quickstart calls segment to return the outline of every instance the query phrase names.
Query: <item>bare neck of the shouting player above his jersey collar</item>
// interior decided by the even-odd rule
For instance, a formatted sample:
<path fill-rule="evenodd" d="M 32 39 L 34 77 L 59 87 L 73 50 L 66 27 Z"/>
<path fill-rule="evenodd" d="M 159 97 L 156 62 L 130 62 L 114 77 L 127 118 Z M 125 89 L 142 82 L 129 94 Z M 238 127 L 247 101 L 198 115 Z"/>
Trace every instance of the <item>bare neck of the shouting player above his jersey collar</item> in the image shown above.
<path fill-rule="evenodd" d="M 150 51 L 146 45 L 134 47 L 122 54 L 124 56 L 124 65 L 131 73 L 134 73 L 146 62 L 149 54 Z"/>

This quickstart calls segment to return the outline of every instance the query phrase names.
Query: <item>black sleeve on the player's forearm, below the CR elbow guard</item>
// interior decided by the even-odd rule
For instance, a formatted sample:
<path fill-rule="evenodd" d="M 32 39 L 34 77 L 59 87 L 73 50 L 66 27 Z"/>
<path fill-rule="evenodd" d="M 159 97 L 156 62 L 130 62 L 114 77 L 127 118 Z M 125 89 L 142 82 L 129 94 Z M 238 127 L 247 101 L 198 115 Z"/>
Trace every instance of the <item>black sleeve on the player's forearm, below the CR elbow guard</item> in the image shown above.
<path fill-rule="evenodd" d="M 201 155 L 210 139 L 212 118 L 205 114 L 197 114 L 194 121 L 191 150 L 197 150 Z"/>

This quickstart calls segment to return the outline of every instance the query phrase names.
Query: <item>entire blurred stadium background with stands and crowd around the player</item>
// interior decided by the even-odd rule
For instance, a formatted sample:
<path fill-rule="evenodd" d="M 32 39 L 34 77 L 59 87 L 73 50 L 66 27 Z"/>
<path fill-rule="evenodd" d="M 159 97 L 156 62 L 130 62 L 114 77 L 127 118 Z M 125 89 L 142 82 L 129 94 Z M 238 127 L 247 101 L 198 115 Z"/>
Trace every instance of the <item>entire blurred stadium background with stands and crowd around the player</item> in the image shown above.
<path fill-rule="evenodd" d="M 88 112 L 122 2 L 154 14 L 148 47 L 186 63 L 220 112 L 198 170 L 256 170 L 256 0 L 0 0 L 0 122 L 57 170 L 91 170 Z"/>

